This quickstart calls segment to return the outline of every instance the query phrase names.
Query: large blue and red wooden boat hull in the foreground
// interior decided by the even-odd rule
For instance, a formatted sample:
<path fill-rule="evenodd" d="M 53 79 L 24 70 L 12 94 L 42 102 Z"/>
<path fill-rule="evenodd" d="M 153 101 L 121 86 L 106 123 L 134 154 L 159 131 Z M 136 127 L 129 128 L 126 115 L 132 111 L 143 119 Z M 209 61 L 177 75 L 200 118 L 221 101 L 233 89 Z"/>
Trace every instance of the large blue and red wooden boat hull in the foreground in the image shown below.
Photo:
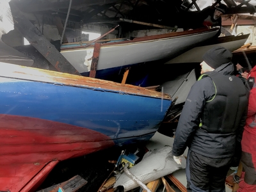
<path fill-rule="evenodd" d="M 62 160 L 149 140 L 172 103 L 129 84 L 0 66 L 0 191 L 35 191 Z"/>

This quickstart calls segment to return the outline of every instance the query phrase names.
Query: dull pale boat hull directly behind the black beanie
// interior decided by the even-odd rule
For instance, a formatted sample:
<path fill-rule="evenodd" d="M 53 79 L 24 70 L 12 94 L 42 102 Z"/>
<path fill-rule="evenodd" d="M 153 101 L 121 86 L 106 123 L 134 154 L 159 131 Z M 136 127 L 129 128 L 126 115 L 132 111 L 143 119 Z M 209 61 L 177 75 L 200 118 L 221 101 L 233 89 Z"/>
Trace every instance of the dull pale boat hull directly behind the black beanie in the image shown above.
<path fill-rule="evenodd" d="M 222 46 L 232 52 L 238 49 L 239 47 L 241 47 L 242 45 L 244 45 L 249 35 L 250 34 L 219 37 L 217 38 L 217 40 L 205 42 L 205 44 L 203 45 L 190 49 L 189 51 L 184 52 L 183 54 L 180 54 L 176 58 L 173 58 L 172 60 L 167 61 L 165 64 L 201 63 L 203 61 L 202 56 L 204 55 L 204 53 L 209 49 L 211 49 L 212 47 Z"/>

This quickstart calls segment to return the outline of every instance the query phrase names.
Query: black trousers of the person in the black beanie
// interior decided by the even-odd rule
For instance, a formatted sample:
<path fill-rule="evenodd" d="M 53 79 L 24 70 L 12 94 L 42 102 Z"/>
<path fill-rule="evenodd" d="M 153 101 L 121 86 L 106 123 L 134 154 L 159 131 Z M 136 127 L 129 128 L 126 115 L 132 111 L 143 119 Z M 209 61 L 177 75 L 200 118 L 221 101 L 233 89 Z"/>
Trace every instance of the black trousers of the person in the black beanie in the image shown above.
<path fill-rule="evenodd" d="M 188 151 L 186 177 L 188 191 L 225 192 L 225 179 L 232 157 L 211 158 Z"/>

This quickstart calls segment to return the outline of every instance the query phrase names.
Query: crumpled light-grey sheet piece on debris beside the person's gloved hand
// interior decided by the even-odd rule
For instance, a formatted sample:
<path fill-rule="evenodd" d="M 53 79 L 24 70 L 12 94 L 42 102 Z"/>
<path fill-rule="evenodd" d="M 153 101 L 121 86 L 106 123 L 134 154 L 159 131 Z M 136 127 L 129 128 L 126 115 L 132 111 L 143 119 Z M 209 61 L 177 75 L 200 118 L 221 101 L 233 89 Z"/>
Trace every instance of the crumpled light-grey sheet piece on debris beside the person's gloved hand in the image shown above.
<path fill-rule="evenodd" d="M 165 145 L 164 147 L 148 151 L 140 163 L 132 166 L 129 172 L 143 182 L 143 184 L 147 184 L 152 180 L 159 179 L 185 167 L 185 157 L 182 156 L 182 163 L 177 164 L 173 160 L 172 147 Z M 138 184 L 124 172 L 116 175 L 114 188 L 118 186 L 124 186 L 124 191 L 129 191 L 137 188 Z"/>

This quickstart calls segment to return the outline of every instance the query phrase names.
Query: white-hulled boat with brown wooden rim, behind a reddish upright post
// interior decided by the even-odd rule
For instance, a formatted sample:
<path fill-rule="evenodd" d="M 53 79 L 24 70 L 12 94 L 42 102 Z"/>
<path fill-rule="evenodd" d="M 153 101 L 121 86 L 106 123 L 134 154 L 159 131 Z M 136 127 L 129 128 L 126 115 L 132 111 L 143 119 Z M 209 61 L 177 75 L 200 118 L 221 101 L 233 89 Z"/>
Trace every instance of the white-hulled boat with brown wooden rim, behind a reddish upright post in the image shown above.
<path fill-rule="evenodd" d="M 197 44 L 211 39 L 216 35 L 218 29 L 196 29 L 102 44 L 96 77 L 100 78 L 102 74 L 108 74 L 109 71 L 118 71 L 122 67 L 136 63 L 174 58 Z M 78 72 L 83 76 L 88 76 L 92 63 L 93 45 L 63 47 L 61 54 Z"/>

